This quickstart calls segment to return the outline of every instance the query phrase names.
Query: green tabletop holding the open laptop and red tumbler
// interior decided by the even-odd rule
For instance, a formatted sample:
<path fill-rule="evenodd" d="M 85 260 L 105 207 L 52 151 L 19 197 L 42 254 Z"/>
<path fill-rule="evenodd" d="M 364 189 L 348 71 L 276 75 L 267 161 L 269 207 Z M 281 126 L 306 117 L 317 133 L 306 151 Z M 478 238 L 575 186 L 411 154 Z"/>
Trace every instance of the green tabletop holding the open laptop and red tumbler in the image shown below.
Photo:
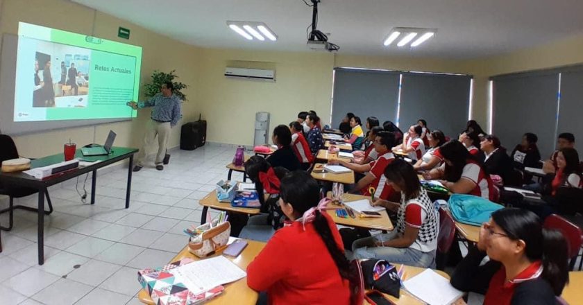
<path fill-rule="evenodd" d="M 103 166 L 107 166 L 109 164 L 118 162 L 122 159 L 126 159 L 130 155 L 137 153 L 136 148 L 124 148 L 124 147 L 112 147 L 112 153 L 110 155 L 103 155 L 103 156 L 93 156 L 93 157 L 85 157 L 81 150 L 78 149 L 75 153 L 75 157 L 79 159 L 83 159 L 84 161 L 93 162 L 99 161 L 94 163 L 90 166 L 80 167 L 73 169 L 71 171 L 65 171 L 63 173 L 59 173 L 53 175 L 51 177 L 47 177 L 43 180 L 36 179 L 31 175 L 27 175 L 23 172 L 15 172 L 15 173 L 0 173 L 0 180 L 3 181 L 10 181 L 10 182 L 19 182 L 19 185 L 22 186 L 34 186 L 34 185 L 42 185 L 46 184 L 47 186 L 57 184 L 59 182 L 63 182 L 65 180 L 69 180 L 73 177 L 77 177 L 78 175 L 83 175 L 84 173 L 89 173 L 90 171 L 94 171 L 97 168 L 101 168 Z M 39 159 L 34 159 L 31 162 L 31 168 L 38 168 L 43 166 L 49 166 L 52 164 L 58 164 L 60 162 L 65 161 L 65 156 L 63 154 L 56 154 L 47 157 L 42 157 Z"/>

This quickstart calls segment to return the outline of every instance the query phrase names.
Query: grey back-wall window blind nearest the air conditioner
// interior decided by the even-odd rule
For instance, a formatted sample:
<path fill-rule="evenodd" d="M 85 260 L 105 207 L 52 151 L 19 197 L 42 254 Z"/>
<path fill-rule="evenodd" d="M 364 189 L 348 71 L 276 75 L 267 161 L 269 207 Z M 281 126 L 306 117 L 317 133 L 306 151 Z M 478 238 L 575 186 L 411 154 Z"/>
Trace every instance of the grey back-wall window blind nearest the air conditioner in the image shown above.
<path fill-rule="evenodd" d="M 380 123 L 395 121 L 399 95 L 399 73 L 335 68 L 332 127 L 338 128 L 346 113 L 353 112 L 366 125 L 376 116 Z"/>

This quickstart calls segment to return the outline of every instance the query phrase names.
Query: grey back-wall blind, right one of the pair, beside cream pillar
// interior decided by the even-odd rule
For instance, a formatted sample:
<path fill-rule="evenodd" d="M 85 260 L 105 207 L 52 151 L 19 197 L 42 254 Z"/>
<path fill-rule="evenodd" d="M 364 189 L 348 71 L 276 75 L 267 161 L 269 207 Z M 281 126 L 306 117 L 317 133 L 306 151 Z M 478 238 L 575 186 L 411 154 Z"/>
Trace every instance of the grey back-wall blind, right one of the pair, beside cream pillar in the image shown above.
<path fill-rule="evenodd" d="M 399 126 L 405 131 L 419 119 L 430 130 L 439 129 L 452 138 L 466 127 L 470 76 L 437 73 L 403 73 Z"/>

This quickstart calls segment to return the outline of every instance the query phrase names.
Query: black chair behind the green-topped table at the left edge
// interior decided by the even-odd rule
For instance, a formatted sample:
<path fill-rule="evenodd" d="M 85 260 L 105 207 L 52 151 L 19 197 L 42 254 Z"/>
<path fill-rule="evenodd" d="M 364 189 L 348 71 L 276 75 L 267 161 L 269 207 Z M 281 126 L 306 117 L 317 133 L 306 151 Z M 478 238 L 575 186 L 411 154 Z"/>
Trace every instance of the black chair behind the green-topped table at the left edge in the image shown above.
<path fill-rule="evenodd" d="M 4 160 L 16 159 L 19 157 L 18 150 L 12 138 L 7 134 L 0 134 L 0 163 Z M 28 195 L 33 195 L 37 193 L 36 189 L 29 189 L 27 187 L 12 187 L 11 185 L 1 184 L 0 183 L 0 195 L 8 195 L 10 198 L 10 206 L 6 209 L 0 210 L 0 214 L 9 212 L 10 216 L 8 218 L 8 227 L 0 227 L 5 231 L 10 231 L 12 229 L 12 225 L 14 225 L 14 210 L 15 209 L 25 209 L 27 211 L 38 211 L 33 207 L 26 207 L 24 205 L 14 205 L 14 198 L 22 198 Z M 49 204 L 49 210 L 44 211 L 44 214 L 49 215 L 53 212 L 53 204 L 51 203 L 51 198 L 49 197 L 49 191 L 45 191 L 44 195 L 47 198 L 47 204 Z"/>

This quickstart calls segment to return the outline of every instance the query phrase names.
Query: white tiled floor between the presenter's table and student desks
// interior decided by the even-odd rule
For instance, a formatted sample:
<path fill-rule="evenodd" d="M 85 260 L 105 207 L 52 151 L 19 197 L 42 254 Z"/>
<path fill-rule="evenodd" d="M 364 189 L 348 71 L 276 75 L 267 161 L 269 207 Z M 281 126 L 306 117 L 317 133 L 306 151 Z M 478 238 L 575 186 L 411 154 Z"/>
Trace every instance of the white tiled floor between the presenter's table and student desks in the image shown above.
<path fill-rule="evenodd" d="M 81 202 L 76 180 L 52 187 L 55 211 L 44 220 L 44 265 L 37 265 L 37 214 L 17 210 L 14 229 L 1 232 L 0 304 L 140 304 L 137 270 L 168 263 L 186 245 L 182 230 L 201 218 L 198 199 L 226 179 L 234 154 L 233 146 L 212 143 L 172 150 L 164 171 L 151 164 L 134 173 L 129 209 L 125 167 L 98 173 L 94 205 Z M 233 173 L 233 179 L 242 176 Z M 16 203 L 33 206 L 36 198 Z M 8 198 L 0 203 L 7 206 Z M 0 224 L 8 224 L 7 214 Z"/>

